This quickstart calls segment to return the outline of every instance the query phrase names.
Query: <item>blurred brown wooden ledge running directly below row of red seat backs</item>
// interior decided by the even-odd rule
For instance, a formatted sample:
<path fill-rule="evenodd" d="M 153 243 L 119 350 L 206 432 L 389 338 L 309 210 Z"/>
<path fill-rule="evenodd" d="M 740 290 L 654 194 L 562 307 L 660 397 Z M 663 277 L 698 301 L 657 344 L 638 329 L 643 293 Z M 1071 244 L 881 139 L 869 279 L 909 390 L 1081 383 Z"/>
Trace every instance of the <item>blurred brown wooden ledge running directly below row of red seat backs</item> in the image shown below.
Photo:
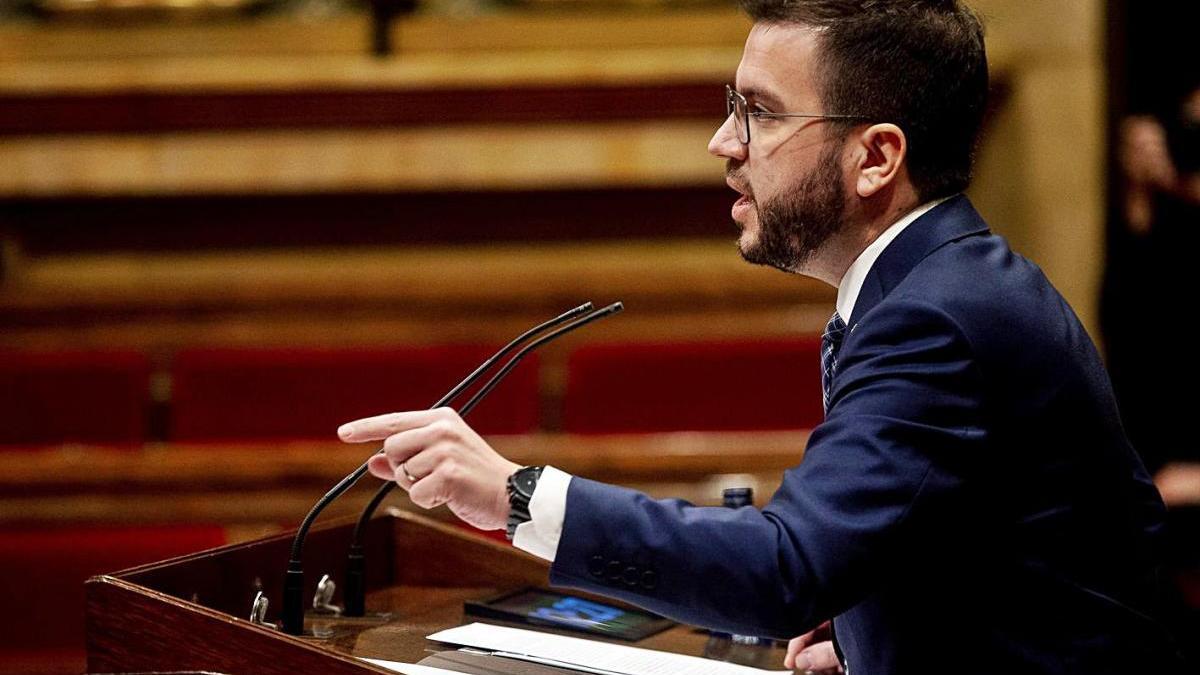
<path fill-rule="evenodd" d="M 704 478 L 742 471 L 782 471 L 799 462 L 806 431 L 708 431 L 572 436 L 492 436 L 517 462 L 550 461 L 598 480 Z M 224 491 L 331 484 L 370 456 L 368 446 L 329 442 L 150 446 L 142 452 L 76 447 L 0 453 L 6 496 L 89 494 L 113 485 L 131 491 Z M 270 461 L 264 461 L 270 458 Z M 670 476 L 667 476 L 670 474 Z M 5 514 L 13 520 L 14 512 Z M 152 512 L 131 518 L 152 518 Z"/>

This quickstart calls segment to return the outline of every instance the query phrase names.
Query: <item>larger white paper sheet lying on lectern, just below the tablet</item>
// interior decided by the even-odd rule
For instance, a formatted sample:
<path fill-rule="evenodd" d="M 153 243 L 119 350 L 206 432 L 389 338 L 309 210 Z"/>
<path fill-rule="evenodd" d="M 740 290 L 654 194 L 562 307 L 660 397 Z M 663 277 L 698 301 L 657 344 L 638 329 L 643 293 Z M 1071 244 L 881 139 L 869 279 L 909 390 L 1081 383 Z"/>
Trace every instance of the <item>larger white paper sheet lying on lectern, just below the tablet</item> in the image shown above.
<path fill-rule="evenodd" d="M 528 661 L 605 675 L 791 675 L 792 673 L 490 623 L 470 623 L 440 631 L 430 635 L 430 639 L 488 650 L 497 652 L 498 656 L 524 657 Z"/>

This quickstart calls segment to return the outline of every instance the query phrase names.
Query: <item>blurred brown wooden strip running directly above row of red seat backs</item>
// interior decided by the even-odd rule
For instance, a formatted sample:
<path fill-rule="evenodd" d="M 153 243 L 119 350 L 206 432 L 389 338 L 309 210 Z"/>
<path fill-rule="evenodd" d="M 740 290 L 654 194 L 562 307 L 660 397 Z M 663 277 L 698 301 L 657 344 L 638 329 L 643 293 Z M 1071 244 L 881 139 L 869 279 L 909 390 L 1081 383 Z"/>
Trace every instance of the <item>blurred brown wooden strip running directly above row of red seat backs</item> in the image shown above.
<path fill-rule="evenodd" d="M 367 306 L 338 315 L 330 305 L 314 304 L 314 316 L 300 307 L 281 311 L 212 312 L 198 306 L 179 316 L 121 313 L 115 307 L 95 312 L 22 313 L 20 323 L 0 333 L 0 345 L 23 348 L 107 348 L 114 345 L 148 350 L 161 362 L 184 346 L 262 345 L 433 345 L 509 339 L 530 325 L 575 306 L 587 295 L 571 294 L 558 300 L 505 303 L 500 306 L 455 304 L 440 312 L 437 307 Z M 662 306 L 638 295 L 602 293 L 598 301 L 624 298 L 634 306 L 620 318 L 589 328 L 568 342 L 550 345 L 542 352 L 545 370 L 553 374 L 572 345 L 613 340 L 746 339 L 790 336 L 820 331 L 833 312 L 833 299 L 820 304 L 778 304 L 720 309 L 704 305 L 688 309 Z M 382 303 L 380 303 L 382 304 Z M 325 312 L 328 311 L 328 315 Z M 551 377 L 556 377 L 551 375 Z"/>

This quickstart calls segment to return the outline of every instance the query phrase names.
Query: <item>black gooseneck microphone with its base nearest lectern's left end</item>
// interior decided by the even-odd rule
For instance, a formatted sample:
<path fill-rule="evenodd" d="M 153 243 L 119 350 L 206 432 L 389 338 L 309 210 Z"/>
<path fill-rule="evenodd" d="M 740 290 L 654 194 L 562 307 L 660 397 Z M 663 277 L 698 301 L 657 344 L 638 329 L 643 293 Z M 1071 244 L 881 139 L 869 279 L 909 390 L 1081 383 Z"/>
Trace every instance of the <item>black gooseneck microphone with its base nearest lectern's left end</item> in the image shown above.
<path fill-rule="evenodd" d="M 613 310 L 612 307 L 617 307 L 617 309 Z M 534 328 L 532 328 L 532 329 L 522 333 L 517 339 L 515 339 L 514 341 L 509 342 L 500 351 L 498 351 L 496 354 L 493 354 L 486 362 L 484 362 L 482 364 L 480 364 L 480 366 L 476 368 L 470 375 L 468 375 L 462 382 L 460 382 L 458 384 L 456 384 L 452 389 L 450 389 L 450 392 L 448 392 L 444 396 L 442 396 L 442 399 L 439 399 L 437 402 L 434 402 L 431 406 L 431 408 L 442 407 L 442 406 L 446 405 L 449 401 L 451 401 L 455 398 L 457 398 L 460 394 L 462 394 L 462 392 L 464 392 L 468 387 L 470 387 L 480 377 L 482 377 L 482 375 L 485 372 L 487 372 L 493 365 L 496 365 L 500 359 L 503 359 L 505 356 L 508 356 L 514 350 L 516 350 L 522 342 L 524 342 L 529 338 L 532 338 L 534 335 L 538 335 L 539 333 L 542 333 L 542 331 L 545 331 L 545 330 L 547 330 L 550 328 L 553 328 L 556 325 L 560 325 L 560 324 L 563 324 L 565 322 L 575 319 L 580 315 L 584 315 L 586 312 L 589 312 L 590 310 L 592 310 L 592 303 L 586 303 L 583 305 L 580 305 L 580 306 L 577 306 L 577 307 L 568 311 L 568 312 L 564 312 L 564 313 L 554 317 L 551 321 L 547 321 L 547 322 L 545 322 L 542 324 L 539 324 L 539 325 L 536 325 L 536 327 L 534 327 Z M 479 393 L 476 393 L 474 396 L 472 396 L 470 401 L 468 401 L 468 405 L 472 406 L 472 407 L 474 407 L 475 405 L 478 405 L 479 401 L 482 399 L 482 396 L 480 395 L 480 393 L 485 393 L 485 390 L 486 392 L 491 392 L 491 389 L 493 389 L 496 387 L 496 384 L 499 383 L 499 380 L 502 380 L 504 377 L 504 375 L 508 375 L 508 372 L 512 370 L 511 366 L 515 366 L 514 362 L 520 360 L 520 358 L 523 358 L 529 352 L 529 347 L 530 346 L 545 344 L 546 341 L 548 341 L 548 340 L 546 340 L 546 338 L 558 336 L 558 335 L 565 334 L 565 333 L 572 330 L 574 328 L 577 328 L 578 325 L 584 325 L 584 324 L 590 323 L 590 322 L 593 322 L 593 321 L 595 321 L 598 318 L 602 318 L 604 316 L 608 316 L 611 313 L 616 313 L 617 311 L 620 311 L 620 303 L 617 303 L 614 305 L 610 305 L 608 307 L 605 307 L 604 310 L 598 310 L 598 311 L 587 313 L 586 316 L 583 316 L 583 318 L 581 318 L 578 321 L 575 321 L 574 323 L 570 323 L 570 324 L 565 325 L 564 328 L 562 328 L 559 330 L 556 330 L 554 333 L 547 334 L 540 341 L 530 342 L 530 345 L 528 345 L 524 350 L 522 350 L 521 352 L 518 352 L 518 354 L 516 357 L 514 357 L 512 359 L 510 359 L 509 363 L 505 364 L 504 369 L 502 369 L 502 371 L 497 376 L 493 376 L 484 386 L 484 388 L 480 389 Z M 485 395 L 486 395 L 486 393 L 485 393 Z M 463 408 L 467 410 L 466 406 Z M 380 452 L 383 452 L 382 448 L 376 454 L 379 454 Z M 323 496 L 312 507 L 312 509 L 308 512 L 308 515 L 306 515 L 305 519 L 300 522 L 300 527 L 296 530 L 295 538 L 292 542 L 292 554 L 290 554 L 290 557 L 288 560 L 287 574 L 284 575 L 284 579 L 283 579 L 282 623 L 283 623 L 283 632 L 284 633 L 288 633 L 290 635 L 301 635 L 301 634 L 304 634 L 304 562 L 302 562 L 302 556 L 304 556 L 304 543 L 305 543 L 305 539 L 308 536 L 308 530 L 312 527 L 312 524 L 317 520 L 317 516 L 320 515 L 320 512 L 323 512 L 325 509 L 325 507 L 328 507 L 334 500 L 336 500 L 338 496 L 341 496 L 347 490 L 349 490 L 355 483 L 358 483 L 358 480 L 360 478 L 362 478 L 362 476 L 366 474 L 366 472 L 367 472 L 367 462 L 362 462 L 361 466 L 359 466 L 356 470 L 354 470 L 353 472 L 350 472 L 346 478 L 342 478 L 336 485 L 334 485 L 334 488 L 330 489 L 329 492 L 326 492 L 325 496 Z M 391 485 L 391 483 L 389 483 L 389 485 Z"/>

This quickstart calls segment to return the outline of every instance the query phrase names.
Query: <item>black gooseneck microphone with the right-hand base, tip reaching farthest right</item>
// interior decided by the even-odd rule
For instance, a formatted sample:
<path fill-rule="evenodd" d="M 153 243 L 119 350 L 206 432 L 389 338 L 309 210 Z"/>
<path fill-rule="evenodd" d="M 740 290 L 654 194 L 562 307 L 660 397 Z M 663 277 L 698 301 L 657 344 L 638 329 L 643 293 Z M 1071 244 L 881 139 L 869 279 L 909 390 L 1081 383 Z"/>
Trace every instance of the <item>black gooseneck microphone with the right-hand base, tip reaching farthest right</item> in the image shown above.
<path fill-rule="evenodd" d="M 479 402 L 482 401 L 484 398 L 486 398 L 487 394 L 490 394 L 492 389 L 494 389 L 496 386 L 499 384 L 500 381 L 503 381 L 509 375 L 509 372 L 511 372 L 521 363 L 521 359 L 529 356 L 530 352 L 536 351 L 542 345 L 552 342 L 562 338 L 563 335 L 571 333 L 572 330 L 583 328 L 584 325 L 594 321 L 599 321 L 607 316 L 612 316 L 622 311 L 623 309 L 624 309 L 623 304 L 613 303 L 606 307 L 599 309 L 584 316 L 583 318 L 580 318 L 578 321 L 575 321 L 574 323 L 563 325 L 562 328 L 554 330 L 553 333 L 547 333 L 546 335 L 542 335 L 541 338 L 538 338 L 536 340 L 529 342 L 511 359 L 509 359 L 496 372 L 496 375 L 493 375 L 482 387 L 480 387 L 479 390 L 475 392 L 475 394 L 466 404 L 463 404 L 461 408 L 458 408 L 458 416 L 466 418 L 468 414 L 470 414 L 470 411 L 473 411 L 475 406 L 478 406 Z M 516 340 L 510 342 L 509 346 L 502 350 L 500 352 L 502 353 L 511 352 L 512 348 L 515 348 L 524 340 L 533 338 L 534 335 L 541 333 L 542 330 L 553 328 L 559 323 L 563 323 L 563 321 L 556 318 L 553 321 L 548 321 L 539 325 L 538 328 L 528 330 L 524 334 L 522 334 L 521 338 L 517 338 Z M 497 360 L 499 359 L 493 358 L 491 363 L 496 363 Z M 346 561 L 346 584 L 343 593 L 343 597 L 346 598 L 346 607 L 342 610 L 342 614 L 344 616 L 362 616 L 364 614 L 366 614 L 366 554 L 362 539 L 365 537 L 367 522 L 371 520 L 371 516 L 374 515 L 376 509 L 379 508 L 379 504 L 383 503 L 383 500 L 386 498 L 388 495 L 390 495 L 395 488 L 396 483 L 394 482 L 388 482 L 380 485 L 379 490 L 377 490 L 374 496 L 371 497 L 371 501 L 367 503 L 366 508 L 362 509 L 362 514 L 359 516 L 359 521 L 354 526 L 354 536 L 353 539 L 350 540 L 350 549 L 349 552 L 347 554 L 347 561 Z"/>

